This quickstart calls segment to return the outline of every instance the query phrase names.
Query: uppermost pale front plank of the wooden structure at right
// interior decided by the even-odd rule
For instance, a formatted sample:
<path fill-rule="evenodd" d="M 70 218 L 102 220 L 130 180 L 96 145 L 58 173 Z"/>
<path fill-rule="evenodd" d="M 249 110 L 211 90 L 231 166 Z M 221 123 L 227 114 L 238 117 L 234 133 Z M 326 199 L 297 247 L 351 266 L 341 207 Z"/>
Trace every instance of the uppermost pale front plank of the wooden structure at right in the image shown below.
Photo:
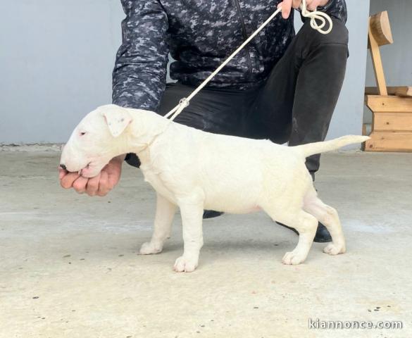
<path fill-rule="evenodd" d="M 412 97 L 367 95 L 366 106 L 373 113 L 412 113 Z"/>

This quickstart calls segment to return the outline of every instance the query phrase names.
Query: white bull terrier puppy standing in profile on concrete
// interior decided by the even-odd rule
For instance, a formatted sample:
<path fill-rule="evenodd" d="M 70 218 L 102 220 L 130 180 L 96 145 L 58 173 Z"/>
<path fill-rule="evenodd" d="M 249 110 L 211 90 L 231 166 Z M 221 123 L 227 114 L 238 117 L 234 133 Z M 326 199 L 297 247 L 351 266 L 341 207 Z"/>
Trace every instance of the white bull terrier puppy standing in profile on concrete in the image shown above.
<path fill-rule="evenodd" d="M 318 221 L 332 236 L 323 250 L 345 252 L 337 211 L 323 204 L 306 169 L 306 157 L 332 151 L 368 137 L 346 136 L 302 146 L 202 132 L 173 123 L 152 111 L 108 105 L 89 113 L 70 136 L 61 164 L 70 172 L 94 177 L 114 157 L 135 153 L 146 182 L 157 192 L 151 241 L 142 254 L 159 253 L 170 236 L 180 207 L 184 252 L 177 272 L 192 272 L 203 246 L 204 209 L 225 213 L 263 210 L 299 232 L 296 248 L 282 262 L 302 263 L 311 248 Z"/>

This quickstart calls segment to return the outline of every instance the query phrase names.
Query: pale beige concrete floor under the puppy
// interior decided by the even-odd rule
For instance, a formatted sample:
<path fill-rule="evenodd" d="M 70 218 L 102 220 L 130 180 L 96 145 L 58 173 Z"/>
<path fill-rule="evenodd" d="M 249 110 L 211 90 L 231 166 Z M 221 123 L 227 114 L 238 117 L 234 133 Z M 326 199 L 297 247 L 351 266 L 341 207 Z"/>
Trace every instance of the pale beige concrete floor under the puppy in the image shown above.
<path fill-rule="evenodd" d="M 297 237 L 262 213 L 204 223 L 198 270 L 138 256 L 154 192 L 125 165 L 106 198 L 61 189 L 58 153 L 0 152 L 0 337 L 412 337 L 412 154 L 323 156 L 321 198 L 348 252 L 285 266 Z M 401 320 L 403 330 L 309 330 L 308 319 Z"/>

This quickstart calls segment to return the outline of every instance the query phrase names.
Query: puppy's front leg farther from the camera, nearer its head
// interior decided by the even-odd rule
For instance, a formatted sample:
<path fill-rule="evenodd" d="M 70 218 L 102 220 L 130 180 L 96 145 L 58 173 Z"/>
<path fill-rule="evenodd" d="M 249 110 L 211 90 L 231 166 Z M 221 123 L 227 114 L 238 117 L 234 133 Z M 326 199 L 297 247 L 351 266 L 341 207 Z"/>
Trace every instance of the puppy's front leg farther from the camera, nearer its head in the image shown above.
<path fill-rule="evenodd" d="M 151 236 L 151 241 L 142 244 L 140 254 L 150 255 L 152 253 L 159 253 L 163 250 L 164 242 L 170 237 L 175 211 L 175 204 L 168 201 L 168 199 L 161 194 L 157 194 L 154 232 Z"/>

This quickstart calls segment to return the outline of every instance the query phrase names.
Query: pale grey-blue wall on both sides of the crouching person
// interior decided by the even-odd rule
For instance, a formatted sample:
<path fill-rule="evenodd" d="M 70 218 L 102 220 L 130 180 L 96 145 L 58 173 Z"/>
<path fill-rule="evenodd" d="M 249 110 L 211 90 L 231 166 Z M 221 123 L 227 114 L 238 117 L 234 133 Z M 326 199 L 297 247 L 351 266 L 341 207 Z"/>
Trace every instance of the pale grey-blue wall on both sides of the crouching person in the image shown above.
<path fill-rule="evenodd" d="M 347 78 L 329 137 L 361 132 L 369 1 L 347 0 Z M 65 142 L 80 118 L 111 101 L 120 0 L 0 4 L 0 143 Z"/>

